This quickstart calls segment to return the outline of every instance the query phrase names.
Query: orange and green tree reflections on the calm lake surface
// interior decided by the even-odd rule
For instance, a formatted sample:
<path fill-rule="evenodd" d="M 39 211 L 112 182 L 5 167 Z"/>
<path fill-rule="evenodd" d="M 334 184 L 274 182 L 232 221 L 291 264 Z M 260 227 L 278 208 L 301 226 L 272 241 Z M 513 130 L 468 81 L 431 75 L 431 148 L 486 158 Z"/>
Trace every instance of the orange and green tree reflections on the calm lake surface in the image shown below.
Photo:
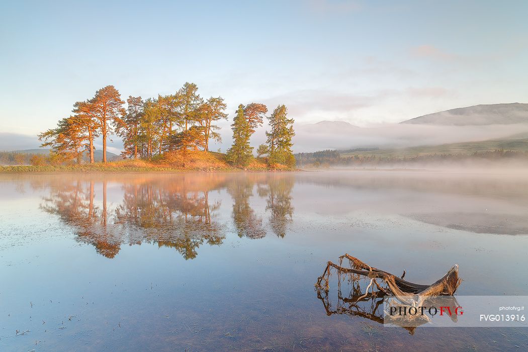
<path fill-rule="evenodd" d="M 218 220 L 221 201 L 210 200 L 211 191 L 223 190 L 231 196 L 231 219 L 240 237 L 259 239 L 266 236 L 262 217 L 250 205 L 253 188 L 266 199 L 270 212 L 269 228 L 284 237 L 293 217 L 291 191 L 294 179 L 289 175 L 164 175 L 166 177 L 124 177 L 115 180 L 103 176 L 71 177 L 49 187 L 42 210 L 60 216 L 71 226 L 77 240 L 95 246 L 98 253 L 114 258 L 122 244 L 157 243 L 174 248 L 186 260 L 194 259 L 205 242 L 220 245 L 228 224 Z M 122 196 L 108 201 L 108 188 L 120 184 Z M 99 194 L 98 194 L 99 193 Z"/>

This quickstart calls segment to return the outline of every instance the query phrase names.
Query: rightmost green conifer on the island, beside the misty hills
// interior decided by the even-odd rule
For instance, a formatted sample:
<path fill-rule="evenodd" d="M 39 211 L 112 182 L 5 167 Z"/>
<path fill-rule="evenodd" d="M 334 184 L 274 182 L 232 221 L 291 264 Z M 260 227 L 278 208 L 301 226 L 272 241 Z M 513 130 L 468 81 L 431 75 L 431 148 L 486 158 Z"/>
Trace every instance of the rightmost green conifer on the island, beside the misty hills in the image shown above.
<path fill-rule="evenodd" d="M 295 165 L 295 158 L 291 147 L 292 138 L 295 136 L 293 128 L 294 119 L 288 119 L 288 109 L 284 105 L 279 105 L 270 117 L 268 117 L 271 131 L 266 132 L 267 144 L 269 147 L 269 164 L 288 163 L 288 166 Z"/>

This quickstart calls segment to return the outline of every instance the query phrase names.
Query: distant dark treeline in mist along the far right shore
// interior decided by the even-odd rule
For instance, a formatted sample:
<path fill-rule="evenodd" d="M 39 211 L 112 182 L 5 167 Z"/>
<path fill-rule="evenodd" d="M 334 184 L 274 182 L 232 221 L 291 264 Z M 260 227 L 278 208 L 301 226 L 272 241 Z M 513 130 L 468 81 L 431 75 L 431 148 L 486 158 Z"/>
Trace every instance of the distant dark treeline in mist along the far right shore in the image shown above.
<path fill-rule="evenodd" d="M 475 159 L 505 160 L 518 159 L 528 161 L 528 151 L 517 150 L 489 150 L 476 151 L 472 154 L 428 154 L 416 156 L 379 156 L 379 155 L 351 155 L 341 156 L 337 150 L 322 150 L 316 153 L 299 153 L 295 155 L 299 165 L 319 166 L 381 166 L 414 163 L 440 163 L 445 161 L 467 161 Z"/>

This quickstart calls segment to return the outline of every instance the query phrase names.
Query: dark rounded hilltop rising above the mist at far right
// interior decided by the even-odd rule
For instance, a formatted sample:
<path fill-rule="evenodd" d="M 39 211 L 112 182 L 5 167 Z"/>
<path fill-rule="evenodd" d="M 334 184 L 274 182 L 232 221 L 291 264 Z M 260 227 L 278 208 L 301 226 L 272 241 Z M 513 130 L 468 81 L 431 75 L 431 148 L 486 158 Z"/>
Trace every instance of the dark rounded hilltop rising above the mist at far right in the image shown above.
<path fill-rule="evenodd" d="M 400 123 L 452 126 L 528 123 L 528 104 L 476 105 L 430 113 Z"/>

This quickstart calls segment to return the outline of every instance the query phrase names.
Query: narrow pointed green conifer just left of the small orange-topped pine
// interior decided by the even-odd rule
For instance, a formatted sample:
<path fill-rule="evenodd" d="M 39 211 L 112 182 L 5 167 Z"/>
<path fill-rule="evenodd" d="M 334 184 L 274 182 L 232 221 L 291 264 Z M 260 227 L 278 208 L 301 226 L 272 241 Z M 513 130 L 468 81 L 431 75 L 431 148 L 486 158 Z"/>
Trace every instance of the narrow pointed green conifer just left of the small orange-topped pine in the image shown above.
<path fill-rule="evenodd" d="M 246 166 L 253 157 L 253 148 L 249 146 L 251 127 L 244 116 L 244 106 L 242 104 L 238 106 L 237 115 L 233 119 L 231 130 L 233 131 L 233 145 L 225 154 L 225 158 L 233 165 Z"/>

